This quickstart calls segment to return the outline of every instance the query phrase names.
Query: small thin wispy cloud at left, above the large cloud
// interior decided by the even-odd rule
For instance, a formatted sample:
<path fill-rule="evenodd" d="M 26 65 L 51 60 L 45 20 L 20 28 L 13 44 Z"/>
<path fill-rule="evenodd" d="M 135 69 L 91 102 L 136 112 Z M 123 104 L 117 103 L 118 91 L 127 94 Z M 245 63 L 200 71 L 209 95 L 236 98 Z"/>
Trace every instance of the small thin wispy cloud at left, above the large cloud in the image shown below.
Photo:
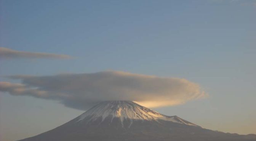
<path fill-rule="evenodd" d="M 39 52 L 23 52 L 18 50 L 7 49 L 0 47 L 0 58 L 14 59 L 14 58 L 52 58 L 52 59 L 70 59 L 69 55 L 59 55 L 53 53 L 39 53 Z"/>

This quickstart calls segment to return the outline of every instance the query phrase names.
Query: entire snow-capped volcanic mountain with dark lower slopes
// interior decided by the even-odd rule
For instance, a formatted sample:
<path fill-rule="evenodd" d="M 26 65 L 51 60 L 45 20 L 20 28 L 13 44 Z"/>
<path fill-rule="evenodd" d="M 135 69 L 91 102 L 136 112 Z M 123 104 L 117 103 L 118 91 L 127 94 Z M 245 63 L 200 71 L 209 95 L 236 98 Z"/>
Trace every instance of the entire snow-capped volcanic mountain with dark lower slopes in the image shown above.
<path fill-rule="evenodd" d="M 20 141 L 256 141 L 208 130 L 131 101 L 106 101 L 53 130 Z"/>

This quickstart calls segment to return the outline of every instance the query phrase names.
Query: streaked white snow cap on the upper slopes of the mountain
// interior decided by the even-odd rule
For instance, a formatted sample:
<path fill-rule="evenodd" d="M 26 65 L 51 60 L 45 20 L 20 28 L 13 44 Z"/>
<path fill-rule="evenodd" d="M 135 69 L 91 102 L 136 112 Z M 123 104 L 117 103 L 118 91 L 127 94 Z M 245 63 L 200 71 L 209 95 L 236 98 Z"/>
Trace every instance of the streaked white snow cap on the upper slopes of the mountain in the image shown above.
<path fill-rule="evenodd" d="M 106 101 L 99 103 L 80 115 L 78 121 L 82 121 L 86 117 L 90 117 L 89 121 L 94 121 L 98 119 L 98 117 L 102 117 L 102 121 L 104 121 L 106 117 L 112 117 L 112 119 L 114 117 L 118 117 L 120 118 L 122 124 L 124 119 L 130 119 L 131 122 L 132 120 L 165 120 L 197 126 L 191 122 L 179 118 L 178 116 L 165 116 L 131 101 Z"/>

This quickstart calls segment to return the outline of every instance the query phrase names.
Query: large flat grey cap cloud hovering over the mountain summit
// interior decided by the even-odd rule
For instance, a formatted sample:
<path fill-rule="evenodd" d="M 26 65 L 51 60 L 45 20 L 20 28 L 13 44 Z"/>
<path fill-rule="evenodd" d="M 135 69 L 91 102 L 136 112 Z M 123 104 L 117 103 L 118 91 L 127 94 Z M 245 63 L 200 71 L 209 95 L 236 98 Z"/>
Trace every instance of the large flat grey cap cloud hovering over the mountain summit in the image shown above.
<path fill-rule="evenodd" d="M 177 105 L 206 96 L 200 86 L 181 78 L 165 78 L 105 71 L 91 74 L 10 76 L 21 84 L 0 83 L 0 91 L 16 96 L 59 100 L 67 107 L 86 110 L 105 100 L 131 100 L 147 107 Z"/>

